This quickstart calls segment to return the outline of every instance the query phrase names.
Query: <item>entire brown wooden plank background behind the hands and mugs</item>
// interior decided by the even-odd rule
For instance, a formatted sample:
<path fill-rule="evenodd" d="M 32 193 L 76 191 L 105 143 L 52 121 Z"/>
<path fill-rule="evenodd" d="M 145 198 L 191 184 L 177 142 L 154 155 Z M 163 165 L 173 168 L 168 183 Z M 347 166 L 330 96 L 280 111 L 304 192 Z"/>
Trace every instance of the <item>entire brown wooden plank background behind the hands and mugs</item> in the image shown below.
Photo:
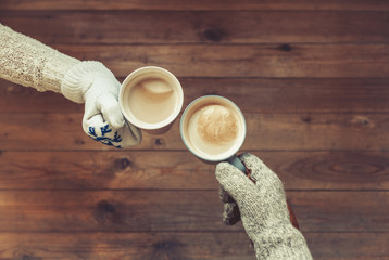
<path fill-rule="evenodd" d="M 389 259 L 389 2 L 0 0 L 0 23 L 122 81 L 156 65 L 185 106 L 235 101 L 315 259 Z M 83 105 L 0 80 L 0 259 L 254 259 L 178 123 L 113 150 Z"/>

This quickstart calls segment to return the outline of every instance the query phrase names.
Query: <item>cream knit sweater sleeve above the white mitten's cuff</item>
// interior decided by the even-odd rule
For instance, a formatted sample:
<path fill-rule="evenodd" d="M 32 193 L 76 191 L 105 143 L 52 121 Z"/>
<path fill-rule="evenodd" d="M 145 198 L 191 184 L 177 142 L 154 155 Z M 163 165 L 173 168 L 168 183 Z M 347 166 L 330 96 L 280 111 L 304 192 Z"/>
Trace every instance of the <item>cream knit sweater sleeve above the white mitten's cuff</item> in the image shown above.
<path fill-rule="evenodd" d="M 0 77 L 38 91 L 61 92 L 61 82 L 79 60 L 0 24 Z"/>

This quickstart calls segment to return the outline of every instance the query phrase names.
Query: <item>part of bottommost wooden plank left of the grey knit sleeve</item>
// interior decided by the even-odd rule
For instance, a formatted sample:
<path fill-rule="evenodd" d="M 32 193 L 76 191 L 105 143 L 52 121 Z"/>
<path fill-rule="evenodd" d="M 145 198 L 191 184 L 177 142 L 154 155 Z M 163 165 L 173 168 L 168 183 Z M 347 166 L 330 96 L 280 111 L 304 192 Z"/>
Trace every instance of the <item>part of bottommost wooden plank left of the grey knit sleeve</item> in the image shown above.
<path fill-rule="evenodd" d="M 246 233 L 2 233 L 0 259 L 254 260 Z"/>

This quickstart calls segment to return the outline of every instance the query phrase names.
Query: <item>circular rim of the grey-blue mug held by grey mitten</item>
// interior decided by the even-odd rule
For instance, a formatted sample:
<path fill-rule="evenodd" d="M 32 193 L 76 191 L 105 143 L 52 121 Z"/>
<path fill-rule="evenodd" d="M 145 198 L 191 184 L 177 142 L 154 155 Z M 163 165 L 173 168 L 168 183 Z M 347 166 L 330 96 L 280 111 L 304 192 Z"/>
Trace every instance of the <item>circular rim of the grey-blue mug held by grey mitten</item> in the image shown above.
<path fill-rule="evenodd" d="M 236 146 L 236 148 L 231 150 L 230 154 L 224 156 L 224 157 L 219 157 L 219 158 L 206 158 L 202 155 L 200 155 L 199 153 L 197 153 L 195 150 L 192 150 L 188 142 L 186 141 L 185 139 L 185 134 L 184 134 L 184 120 L 185 120 L 185 115 L 188 113 L 188 110 L 190 109 L 190 107 L 192 107 L 196 103 L 198 103 L 199 101 L 201 100 L 204 100 L 204 99 L 212 99 L 212 98 L 216 98 L 216 99 L 221 99 L 221 100 L 224 100 L 226 101 L 228 104 L 233 105 L 235 108 L 236 108 L 236 112 L 238 112 L 238 114 L 240 115 L 241 119 L 242 119 L 242 135 L 243 138 L 241 138 L 240 142 L 238 143 L 238 145 Z M 233 157 L 240 148 L 241 146 L 243 145 L 244 143 L 244 140 L 246 140 L 246 134 L 247 134 L 247 125 L 246 125 L 246 118 L 244 118 L 244 115 L 243 113 L 241 112 L 241 109 L 239 108 L 239 106 L 237 104 L 235 104 L 235 102 L 233 102 L 231 100 L 225 98 L 225 96 L 222 96 L 222 95 L 216 95 L 216 94 L 210 94 L 210 95 L 203 95 L 203 96 L 200 96 L 196 100 L 193 100 L 192 102 L 189 103 L 189 105 L 185 108 L 183 115 L 181 115 L 181 119 L 180 119 L 180 122 L 179 122 L 179 133 L 181 135 L 181 139 L 183 139 L 183 142 L 185 144 L 185 146 L 189 150 L 190 153 L 192 153 L 196 157 L 198 157 L 199 159 L 203 160 L 203 161 L 209 161 L 209 162 L 218 162 L 218 161 L 224 161 L 224 160 L 228 160 L 230 157 Z M 233 153 L 234 152 L 234 153 Z"/>

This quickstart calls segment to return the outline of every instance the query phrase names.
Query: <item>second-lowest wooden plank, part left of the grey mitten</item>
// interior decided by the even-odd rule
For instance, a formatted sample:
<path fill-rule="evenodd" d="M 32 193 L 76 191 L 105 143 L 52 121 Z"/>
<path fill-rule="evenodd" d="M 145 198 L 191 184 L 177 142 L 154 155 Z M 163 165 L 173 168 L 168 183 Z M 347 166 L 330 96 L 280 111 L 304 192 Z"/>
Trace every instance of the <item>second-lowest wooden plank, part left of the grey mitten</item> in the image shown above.
<path fill-rule="evenodd" d="M 225 226 L 217 190 L 0 192 L 3 232 L 239 231 Z"/>

